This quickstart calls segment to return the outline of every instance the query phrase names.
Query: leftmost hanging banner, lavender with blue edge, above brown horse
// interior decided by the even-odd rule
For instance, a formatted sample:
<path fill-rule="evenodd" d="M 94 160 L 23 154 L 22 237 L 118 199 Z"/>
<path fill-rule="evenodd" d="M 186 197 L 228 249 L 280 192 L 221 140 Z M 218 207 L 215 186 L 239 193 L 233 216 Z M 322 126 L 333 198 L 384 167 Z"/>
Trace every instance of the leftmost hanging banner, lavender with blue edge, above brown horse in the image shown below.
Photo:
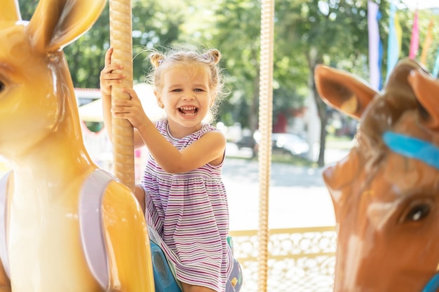
<path fill-rule="evenodd" d="M 367 29 L 369 34 L 369 71 L 370 85 L 375 90 L 381 89 L 381 60 L 383 48 L 379 39 L 378 21 L 381 19 L 378 4 L 367 1 Z"/>

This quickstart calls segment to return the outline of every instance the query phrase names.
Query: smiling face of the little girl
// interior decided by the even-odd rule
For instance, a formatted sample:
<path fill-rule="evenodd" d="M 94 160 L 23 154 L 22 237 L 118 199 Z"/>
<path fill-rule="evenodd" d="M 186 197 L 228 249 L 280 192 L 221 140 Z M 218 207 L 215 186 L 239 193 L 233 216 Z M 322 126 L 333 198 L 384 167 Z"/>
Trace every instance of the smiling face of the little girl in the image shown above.
<path fill-rule="evenodd" d="M 201 129 L 201 122 L 215 101 L 207 69 L 176 66 L 163 72 L 163 87 L 155 92 L 168 117 L 170 134 L 176 138 Z"/>

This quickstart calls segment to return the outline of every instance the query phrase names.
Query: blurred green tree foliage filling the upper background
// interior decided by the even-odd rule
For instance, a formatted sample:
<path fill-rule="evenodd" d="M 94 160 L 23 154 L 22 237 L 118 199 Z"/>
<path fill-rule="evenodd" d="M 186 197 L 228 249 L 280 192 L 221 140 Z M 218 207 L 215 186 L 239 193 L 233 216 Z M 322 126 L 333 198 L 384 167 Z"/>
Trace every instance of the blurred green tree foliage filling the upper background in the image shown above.
<path fill-rule="evenodd" d="M 386 76 L 389 1 L 376 0 L 384 48 L 381 67 Z M 22 18 L 32 17 L 38 0 L 20 0 Z M 231 95 L 222 104 L 218 120 L 241 123 L 256 130 L 259 113 L 259 46 L 261 2 L 254 0 L 133 0 L 133 77 L 144 81 L 149 71 L 145 50 L 179 43 L 218 48 Z M 413 11 L 398 6 L 403 29 L 402 52 L 409 53 Z M 402 8 L 401 8 L 402 7 Z M 433 69 L 438 53 L 439 15 L 419 11 L 419 56 L 433 20 L 433 42 L 426 67 Z M 316 64 L 345 69 L 369 80 L 367 0 L 276 1 L 273 56 L 273 116 L 289 115 L 314 97 L 321 121 L 319 164 L 323 165 L 325 125 L 330 109 L 318 98 L 313 84 Z M 104 53 L 109 48 L 109 5 L 95 25 L 65 48 L 74 86 L 98 88 Z"/>

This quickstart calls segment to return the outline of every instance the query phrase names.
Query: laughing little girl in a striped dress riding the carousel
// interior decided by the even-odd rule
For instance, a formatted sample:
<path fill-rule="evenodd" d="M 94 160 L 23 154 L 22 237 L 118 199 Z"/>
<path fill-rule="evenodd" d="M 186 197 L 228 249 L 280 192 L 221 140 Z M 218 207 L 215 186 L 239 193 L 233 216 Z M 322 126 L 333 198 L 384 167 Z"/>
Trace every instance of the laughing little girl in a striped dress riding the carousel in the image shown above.
<path fill-rule="evenodd" d="M 158 106 L 166 118 L 153 123 L 134 90 L 131 99 L 118 99 L 112 107 L 111 87 L 120 83 L 122 69 L 105 55 L 100 74 L 104 123 L 112 138 L 112 115 L 133 125 L 136 148 L 147 146 L 149 160 L 135 195 L 147 223 L 161 237 L 161 247 L 175 266 L 175 277 L 184 292 L 223 292 L 231 270 L 227 244 L 229 209 L 221 172 L 226 139 L 204 123 L 215 101 L 224 96 L 224 82 L 217 66 L 221 55 L 174 50 L 151 53 Z"/>

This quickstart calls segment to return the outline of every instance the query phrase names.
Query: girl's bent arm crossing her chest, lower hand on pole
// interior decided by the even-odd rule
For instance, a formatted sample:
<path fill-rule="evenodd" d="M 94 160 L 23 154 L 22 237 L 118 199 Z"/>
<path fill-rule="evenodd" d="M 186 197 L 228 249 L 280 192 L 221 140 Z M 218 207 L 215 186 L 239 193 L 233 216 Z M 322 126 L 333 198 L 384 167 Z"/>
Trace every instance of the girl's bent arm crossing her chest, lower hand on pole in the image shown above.
<path fill-rule="evenodd" d="M 207 163 L 218 165 L 224 158 L 226 139 L 221 132 L 208 132 L 191 145 L 178 150 L 158 132 L 142 109 L 134 90 L 124 89 L 131 99 L 118 99 L 113 115 L 127 118 L 143 139 L 149 153 L 158 164 L 170 173 L 189 172 Z"/>

